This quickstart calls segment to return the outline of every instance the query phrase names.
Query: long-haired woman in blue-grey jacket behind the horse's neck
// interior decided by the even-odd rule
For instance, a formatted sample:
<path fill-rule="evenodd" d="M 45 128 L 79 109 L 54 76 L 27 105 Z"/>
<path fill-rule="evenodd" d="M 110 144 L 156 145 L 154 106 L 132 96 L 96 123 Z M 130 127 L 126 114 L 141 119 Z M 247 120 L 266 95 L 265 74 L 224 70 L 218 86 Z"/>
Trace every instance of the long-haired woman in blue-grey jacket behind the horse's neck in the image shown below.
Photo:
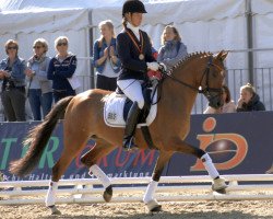
<path fill-rule="evenodd" d="M 177 28 L 173 25 L 167 25 L 164 28 L 162 45 L 158 51 L 157 61 L 165 64 L 167 69 L 175 66 L 188 55 L 187 46 L 181 42 Z"/>

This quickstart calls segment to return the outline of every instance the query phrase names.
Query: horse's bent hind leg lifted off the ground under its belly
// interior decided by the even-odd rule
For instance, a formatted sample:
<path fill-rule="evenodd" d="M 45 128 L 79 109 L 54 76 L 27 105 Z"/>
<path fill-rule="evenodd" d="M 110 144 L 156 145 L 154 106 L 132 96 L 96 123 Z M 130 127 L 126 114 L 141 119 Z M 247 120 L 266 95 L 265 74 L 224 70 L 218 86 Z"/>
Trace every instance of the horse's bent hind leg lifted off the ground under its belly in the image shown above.
<path fill-rule="evenodd" d="M 111 182 L 105 172 L 96 164 L 96 162 L 114 149 L 115 147 L 109 145 L 107 141 L 98 139 L 96 140 L 96 145 L 81 158 L 82 163 L 90 168 L 90 174 L 93 173 L 93 175 L 102 182 L 105 188 L 103 197 L 107 203 L 111 200 L 112 196 Z"/>

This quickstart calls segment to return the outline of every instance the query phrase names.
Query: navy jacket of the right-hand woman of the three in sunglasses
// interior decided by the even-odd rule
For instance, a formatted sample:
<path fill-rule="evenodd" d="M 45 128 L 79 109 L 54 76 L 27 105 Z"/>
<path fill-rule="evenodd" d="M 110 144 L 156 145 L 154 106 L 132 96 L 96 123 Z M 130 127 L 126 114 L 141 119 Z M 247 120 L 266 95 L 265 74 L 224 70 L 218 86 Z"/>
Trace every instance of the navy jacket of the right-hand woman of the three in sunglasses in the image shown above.
<path fill-rule="evenodd" d="M 48 67 L 47 79 L 52 80 L 52 89 L 59 91 L 73 90 L 68 81 L 76 69 L 75 55 L 69 55 L 62 62 L 54 57 Z"/>

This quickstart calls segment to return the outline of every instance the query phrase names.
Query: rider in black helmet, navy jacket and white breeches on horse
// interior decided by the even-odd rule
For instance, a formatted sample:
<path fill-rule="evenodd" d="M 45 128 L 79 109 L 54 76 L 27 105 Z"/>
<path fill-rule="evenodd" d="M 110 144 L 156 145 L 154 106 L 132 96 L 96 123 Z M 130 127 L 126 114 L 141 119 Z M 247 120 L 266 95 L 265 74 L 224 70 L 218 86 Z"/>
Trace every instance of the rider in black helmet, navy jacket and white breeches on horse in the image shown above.
<path fill-rule="evenodd" d="M 146 32 L 140 30 L 143 13 L 146 13 L 146 10 L 141 1 L 126 1 L 122 8 L 123 30 L 117 36 L 117 53 L 121 61 L 117 84 L 133 102 L 128 114 L 122 142 L 126 150 L 136 149 L 133 135 L 144 106 L 141 84 L 147 80 L 147 69 L 157 71 L 159 67 L 152 55 L 152 45 Z"/>

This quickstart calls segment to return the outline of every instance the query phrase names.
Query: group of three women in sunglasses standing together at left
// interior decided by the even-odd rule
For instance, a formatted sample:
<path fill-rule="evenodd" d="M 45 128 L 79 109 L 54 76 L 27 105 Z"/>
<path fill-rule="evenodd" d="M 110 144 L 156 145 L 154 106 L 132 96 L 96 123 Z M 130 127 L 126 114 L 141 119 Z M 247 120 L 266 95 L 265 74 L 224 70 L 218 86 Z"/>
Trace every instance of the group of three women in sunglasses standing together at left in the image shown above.
<path fill-rule="evenodd" d="M 33 56 L 26 61 L 19 55 L 19 44 L 9 39 L 7 58 L 0 61 L 1 102 L 7 122 L 26 120 L 25 103 L 29 101 L 34 120 L 41 120 L 51 110 L 52 102 L 75 95 L 71 79 L 76 69 L 76 57 L 68 50 L 69 39 L 55 41 L 56 56 L 47 56 L 48 43 L 37 38 Z"/>

